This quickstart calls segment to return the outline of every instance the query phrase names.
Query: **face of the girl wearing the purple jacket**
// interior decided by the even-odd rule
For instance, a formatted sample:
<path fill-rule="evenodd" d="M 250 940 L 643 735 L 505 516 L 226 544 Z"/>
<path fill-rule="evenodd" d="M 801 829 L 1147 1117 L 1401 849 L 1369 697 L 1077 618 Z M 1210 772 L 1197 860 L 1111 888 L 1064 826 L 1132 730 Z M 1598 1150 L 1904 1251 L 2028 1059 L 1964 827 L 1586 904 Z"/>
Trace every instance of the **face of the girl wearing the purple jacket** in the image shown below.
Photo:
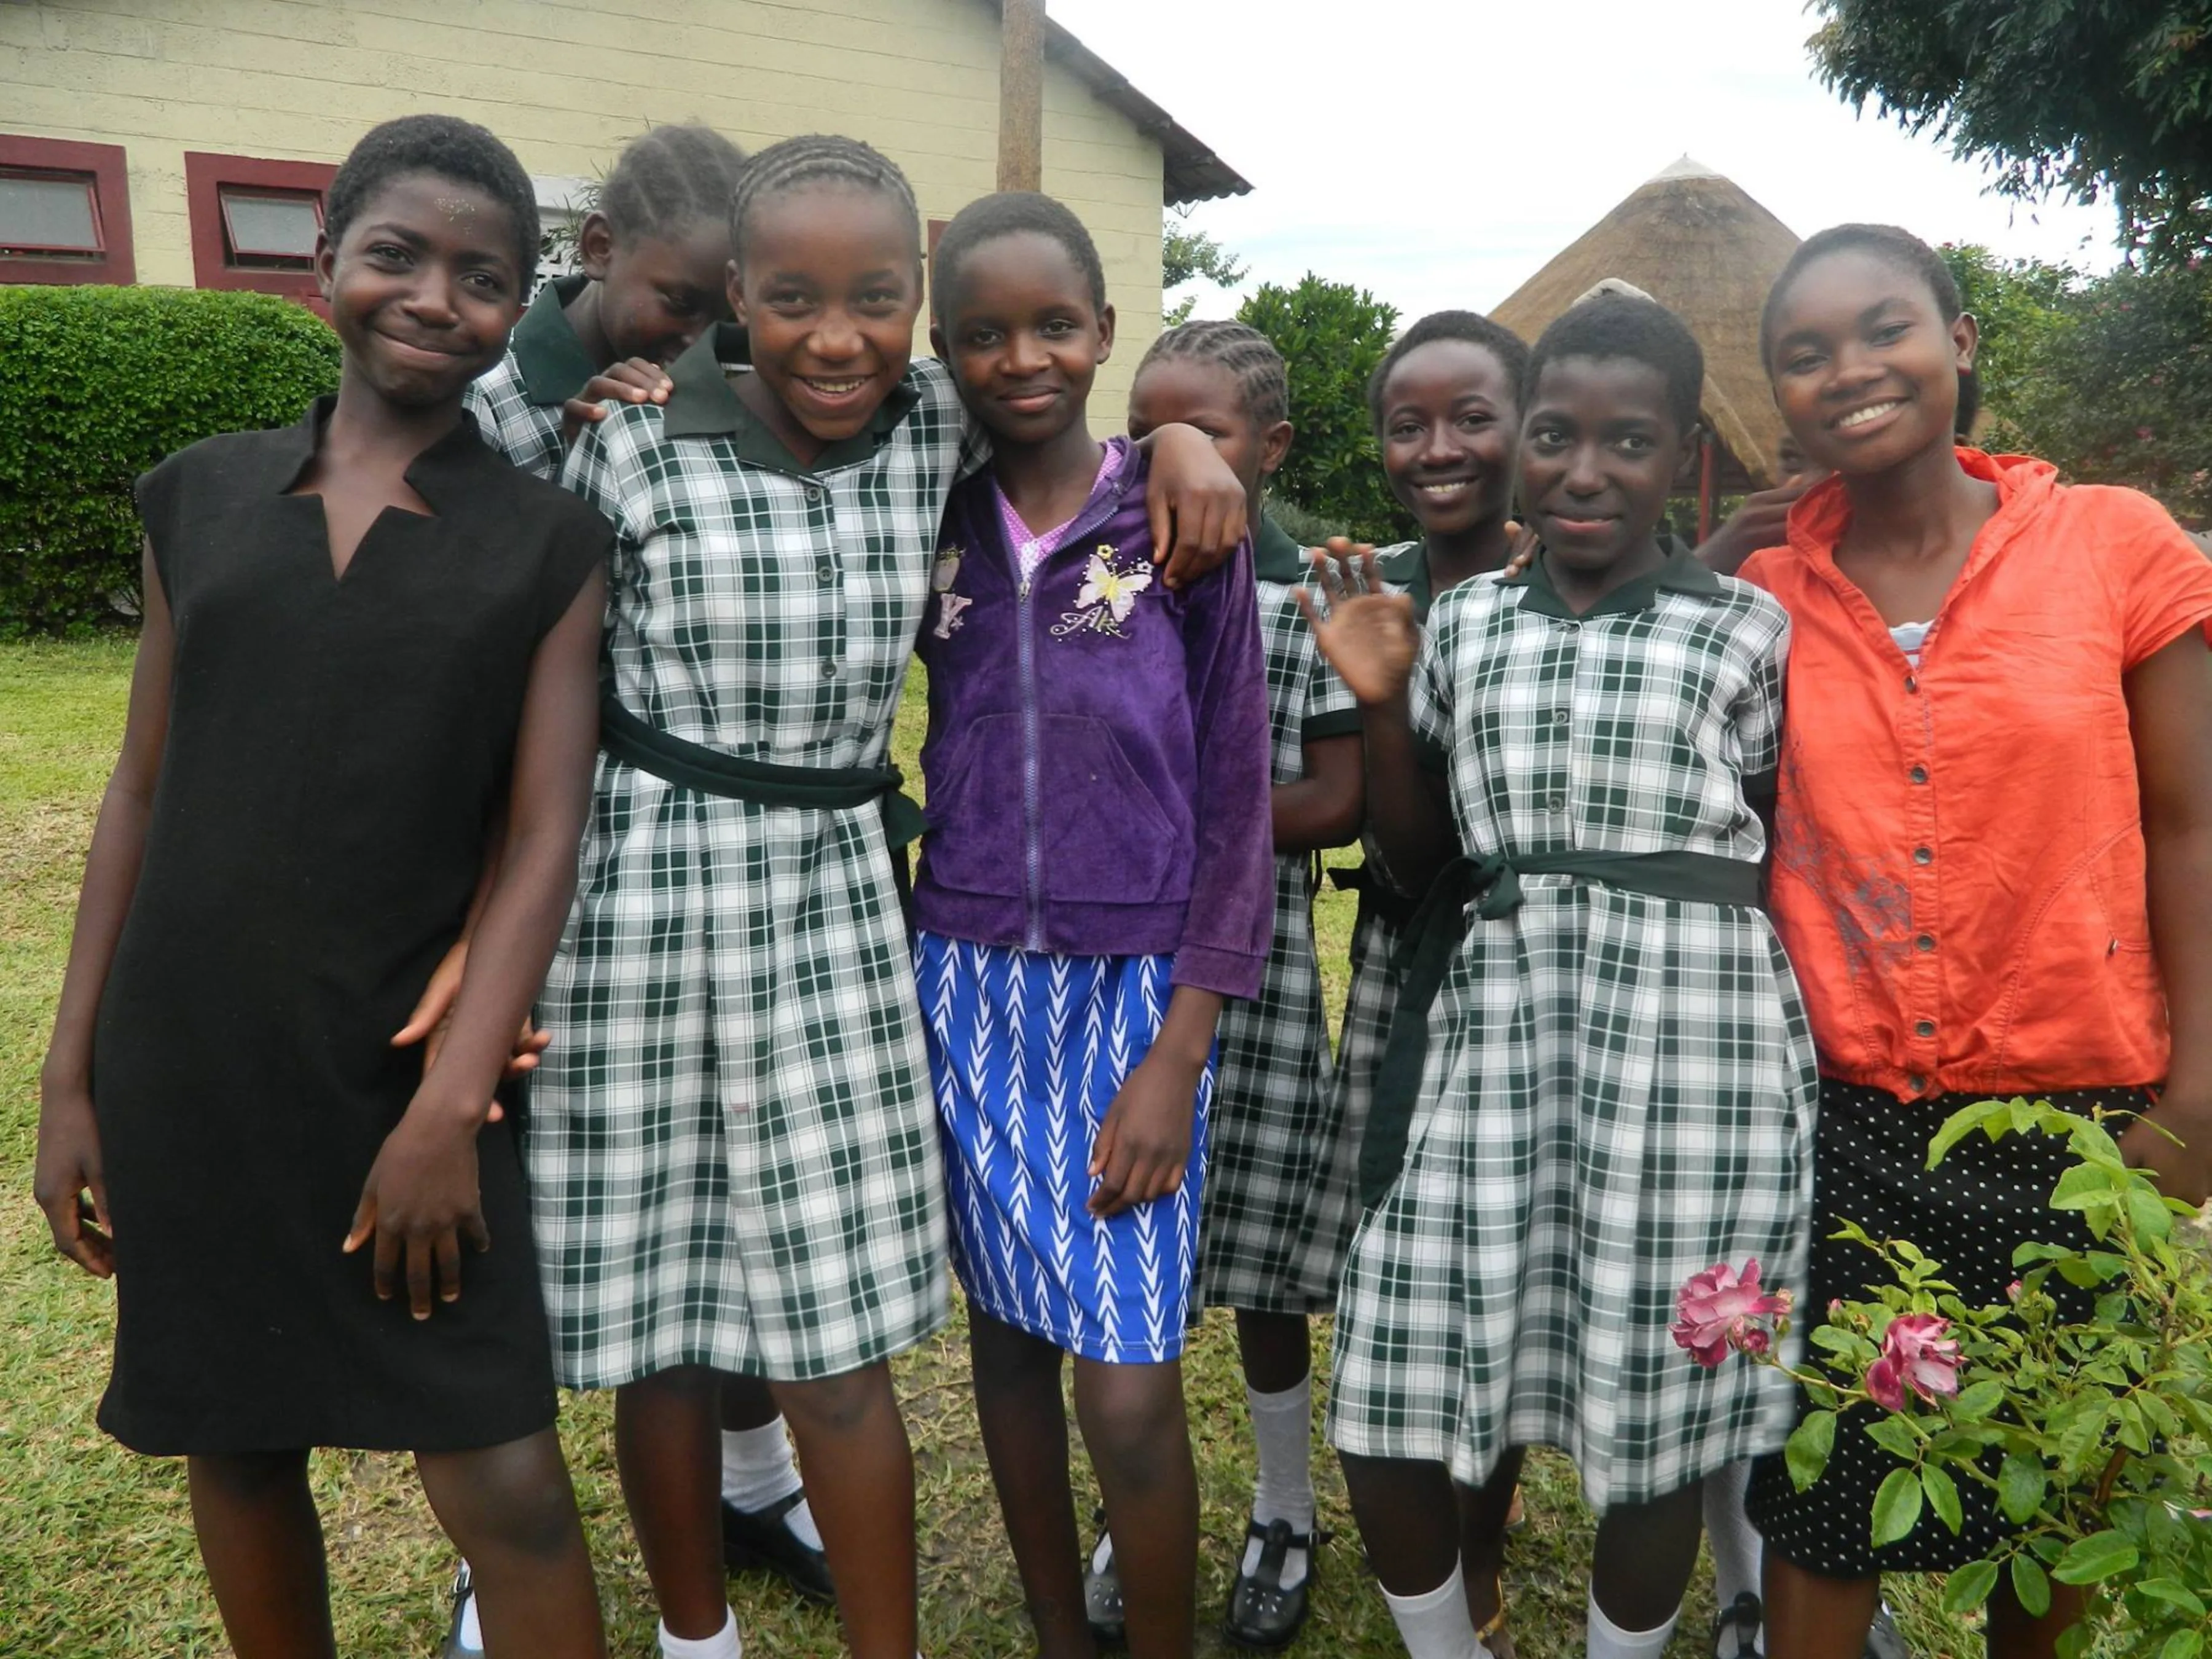
<path fill-rule="evenodd" d="M 1033 447 L 1084 418 L 1113 354 L 1113 305 L 1095 305 L 1091 279 L 1057 237 L 991 237 L 938 281 L 949 292 L 929 338 L 993 440 Z"/>

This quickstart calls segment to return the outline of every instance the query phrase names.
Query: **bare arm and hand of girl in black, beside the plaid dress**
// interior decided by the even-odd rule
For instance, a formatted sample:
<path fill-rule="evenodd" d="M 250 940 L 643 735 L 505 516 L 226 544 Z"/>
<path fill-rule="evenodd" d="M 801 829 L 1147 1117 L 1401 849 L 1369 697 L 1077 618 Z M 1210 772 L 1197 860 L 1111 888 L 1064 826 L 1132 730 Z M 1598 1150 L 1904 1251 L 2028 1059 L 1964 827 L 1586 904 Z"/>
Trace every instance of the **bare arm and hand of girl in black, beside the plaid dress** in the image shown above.
<path fill-rule="evenodd" d="M 374 1237 L 378 1296 L 396 1294 L 405 1265 L 416 1318 L 429 1318 L 434 1267 L 438 1294 L 460 1296 L 460 1237 L 489 1248 L 476 1190 L 476 1133 L 575 896 L 575 849 L 599 745 L 602 606 L 604 580 L 593 575 L 538 644 L 515 737 L 509 834 L 451 1031 L 376 1155 L 345 1237 L 345 1250 Z"/>

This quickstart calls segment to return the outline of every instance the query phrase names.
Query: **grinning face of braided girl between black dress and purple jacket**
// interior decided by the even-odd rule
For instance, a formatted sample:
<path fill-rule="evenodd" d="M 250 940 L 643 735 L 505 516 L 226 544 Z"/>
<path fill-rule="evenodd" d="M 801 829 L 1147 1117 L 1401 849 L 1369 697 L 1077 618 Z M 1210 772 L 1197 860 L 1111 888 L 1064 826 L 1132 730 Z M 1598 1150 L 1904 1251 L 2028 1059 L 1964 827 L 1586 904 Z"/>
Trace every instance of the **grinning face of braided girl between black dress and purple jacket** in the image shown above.
<path fill-rule="evenodd" d="M 754 201 L 730 261 L 730 307 L 752 345 L 763 414 L 785 440 L 858 436 L 898 389 L 922 310 L 914 219 L 880 190 L 810 184 Z M 739 396 L 745 396 L 743 389 Z"/>

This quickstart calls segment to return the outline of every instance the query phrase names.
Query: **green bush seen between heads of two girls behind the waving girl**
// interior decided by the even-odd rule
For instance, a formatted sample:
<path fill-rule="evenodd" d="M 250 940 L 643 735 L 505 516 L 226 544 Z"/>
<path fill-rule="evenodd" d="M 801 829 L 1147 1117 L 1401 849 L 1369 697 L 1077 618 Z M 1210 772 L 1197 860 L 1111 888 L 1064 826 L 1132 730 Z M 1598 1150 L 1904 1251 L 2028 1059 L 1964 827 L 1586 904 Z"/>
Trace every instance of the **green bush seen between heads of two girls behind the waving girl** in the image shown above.
<path fill-rule="evenodd" d="M 1367 418 L 1367 376 L 1389 352 L 1398 307 L 1365 288 L 1305 274 L 1296 288 L 1261 283 L 1237 310 L 1290 365 L 1290 418 L 1298 438 L 1274 489 L 1338 533 L 1369 542 L 1413 535 L 1383 480 L 1383 451 Z"/>

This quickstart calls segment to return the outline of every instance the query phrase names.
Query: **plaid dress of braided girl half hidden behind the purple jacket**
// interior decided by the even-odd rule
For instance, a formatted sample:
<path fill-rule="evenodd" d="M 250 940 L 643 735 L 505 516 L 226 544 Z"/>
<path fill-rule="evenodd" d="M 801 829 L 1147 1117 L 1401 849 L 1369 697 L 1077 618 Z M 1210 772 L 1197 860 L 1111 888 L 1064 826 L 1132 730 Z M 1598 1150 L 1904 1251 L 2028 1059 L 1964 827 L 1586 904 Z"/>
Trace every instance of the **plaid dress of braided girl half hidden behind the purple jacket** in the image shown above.
<path fill-rule="evenodd" d="M 1305 745 L 1360 730 L 1358 703 L 1314 644 L 1292 597 L 1305 553 L 1272 520 L 1254 542 L 1267 659 L 1272 783 L 1305 776 Z M 1329 1022 L 1314 958 L 1314 858 L 1274 860 L 1274 942 L 1259 995 L 1221 1011 L 1212 1155 L 1199 1234 L 1199 1296 L 1259 1314 L 1327 1312 L 1340 1241 L 1314 1254 L 1314 1203 L 1340 1135 L 1329 1088 Z"/>

